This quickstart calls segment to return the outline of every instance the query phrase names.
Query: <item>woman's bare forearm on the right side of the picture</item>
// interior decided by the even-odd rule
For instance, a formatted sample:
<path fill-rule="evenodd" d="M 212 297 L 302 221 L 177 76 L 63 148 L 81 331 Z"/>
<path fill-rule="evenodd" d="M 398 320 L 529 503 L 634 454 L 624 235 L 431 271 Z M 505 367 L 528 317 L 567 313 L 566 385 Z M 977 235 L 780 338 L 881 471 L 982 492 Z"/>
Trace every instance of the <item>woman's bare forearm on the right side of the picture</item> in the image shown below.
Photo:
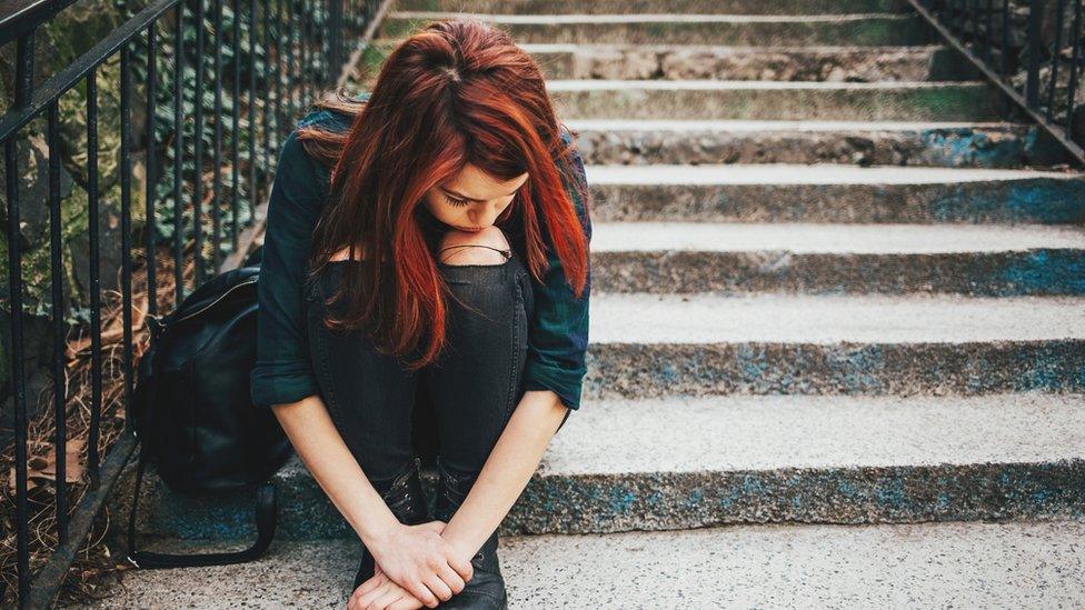
<path fill-rule="evenodd" d="M 478 551 L 516 503 L 567 410 L 549 390 L 524 392 L 471 491 L 441 531 L 464 558 Z"/>

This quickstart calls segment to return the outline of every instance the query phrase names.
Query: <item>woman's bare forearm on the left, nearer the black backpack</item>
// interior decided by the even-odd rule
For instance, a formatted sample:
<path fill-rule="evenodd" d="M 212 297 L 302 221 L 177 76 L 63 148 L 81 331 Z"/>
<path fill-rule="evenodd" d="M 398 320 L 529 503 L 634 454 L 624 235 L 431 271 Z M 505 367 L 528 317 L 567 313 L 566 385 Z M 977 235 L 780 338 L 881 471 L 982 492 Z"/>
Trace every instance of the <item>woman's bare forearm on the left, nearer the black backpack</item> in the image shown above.
<path fill-rule="evenodd" d="M 298 457 L 362 543 L 372 548 L 375 540 L 400 524 L 350 453 L 319 394 L 271 409 Z"/>

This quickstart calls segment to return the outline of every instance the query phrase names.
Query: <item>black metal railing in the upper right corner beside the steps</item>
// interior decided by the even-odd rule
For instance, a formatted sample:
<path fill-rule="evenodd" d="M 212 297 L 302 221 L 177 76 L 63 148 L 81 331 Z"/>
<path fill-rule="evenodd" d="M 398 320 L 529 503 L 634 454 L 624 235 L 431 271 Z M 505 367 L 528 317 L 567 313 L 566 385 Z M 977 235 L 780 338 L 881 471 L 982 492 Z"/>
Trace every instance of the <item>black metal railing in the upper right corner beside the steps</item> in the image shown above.
<path fill-rule="evenodd" d="M 1085 0 L 908 0 L 1085 166 Z"/>

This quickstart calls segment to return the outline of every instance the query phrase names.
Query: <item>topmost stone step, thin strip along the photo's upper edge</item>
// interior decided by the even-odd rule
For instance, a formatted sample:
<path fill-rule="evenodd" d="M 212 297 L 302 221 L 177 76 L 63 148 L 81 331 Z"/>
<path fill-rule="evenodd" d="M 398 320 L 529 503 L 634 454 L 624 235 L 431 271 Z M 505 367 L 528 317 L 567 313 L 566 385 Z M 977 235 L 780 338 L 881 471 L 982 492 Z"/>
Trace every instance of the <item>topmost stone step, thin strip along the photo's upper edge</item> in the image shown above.
<path fill-rule="evenodd" d="M 499 14 L 837 14 L 906 12 L 906 0 L 397 0 L 400 11 Z"/>

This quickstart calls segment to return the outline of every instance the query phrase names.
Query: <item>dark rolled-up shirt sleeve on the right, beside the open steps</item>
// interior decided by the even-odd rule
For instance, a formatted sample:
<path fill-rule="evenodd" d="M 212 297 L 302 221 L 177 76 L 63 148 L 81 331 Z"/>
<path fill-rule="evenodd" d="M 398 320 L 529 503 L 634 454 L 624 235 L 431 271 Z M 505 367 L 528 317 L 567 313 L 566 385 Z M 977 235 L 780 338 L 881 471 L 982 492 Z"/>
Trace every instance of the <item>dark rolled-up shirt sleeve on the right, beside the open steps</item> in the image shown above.
<path fill-rule="evenodd" d="M 571 141 L 568 130 L 563 130 L 563 140 Z M 587 194 L 587 177 L 579 151 L 573 153 L 574 179 Z M 563 172 L 563 179 L 565 173 Z M 585 238 L 591 240 L 591 217 L 587 201 L 575 189 L 566 188 L 573 199 L 580 228 Z M 544 238 L 549 236 L 544 228 Z M 587 372 L 585 356 L 588 349 L 588 301 L 591 292 L 591 261 L 588 257 L 588 278 L 584 293 L 577 298 L 565 278 L 560 259 L 553 250 L 547 250 L 549 267 L 541 284 L 535 286 L 535 320 L 528 337 L 527 364 L 525 368 L 526 390 L 551 390 L 573 410 L 580 408 L 580 391 Z M 561 421 L 565 424 L 565 420 Z M 560 429 L 560 427 L 559 427 Z"/>

